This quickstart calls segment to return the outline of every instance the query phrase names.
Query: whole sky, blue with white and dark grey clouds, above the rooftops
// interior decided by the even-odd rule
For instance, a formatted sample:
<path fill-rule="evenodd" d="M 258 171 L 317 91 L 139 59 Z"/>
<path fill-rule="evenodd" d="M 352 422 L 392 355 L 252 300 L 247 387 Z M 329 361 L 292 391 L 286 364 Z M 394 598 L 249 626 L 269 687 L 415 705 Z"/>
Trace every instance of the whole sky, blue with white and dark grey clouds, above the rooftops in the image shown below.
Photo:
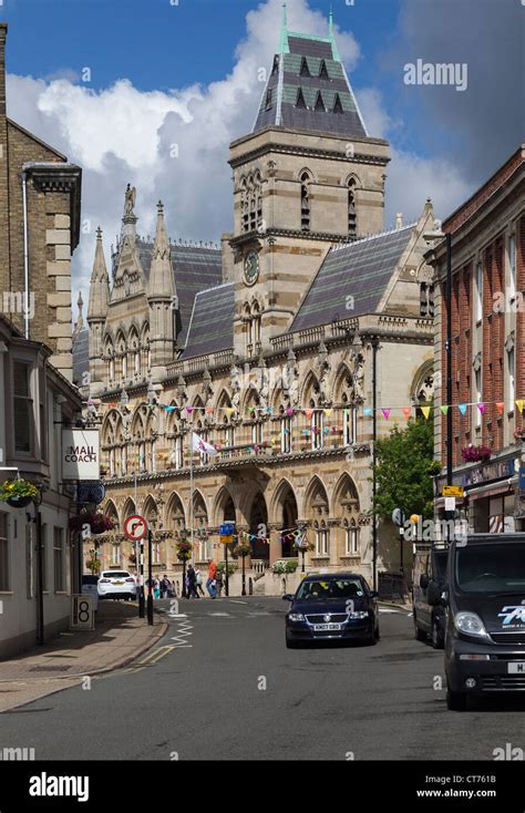
<path fill-rule="evenodd" d="M 444 218 L 525 141 L 525 0 L 288 0 L 289 29 L 336 34 L 370 135 L 388 138 L 385 228 L 426 197 Z M 95 229 L 138 233 L 156 202 L 174 239 L 231 228 L 228 145 L 250 132 L 282 0 L 0 0 L 8 114 L 83 168 L 74 290 L 86 300 Z M 409 84 L 451 63 L 455 84 Z M 428 74 L 430 76 L 430 74 Z"/>

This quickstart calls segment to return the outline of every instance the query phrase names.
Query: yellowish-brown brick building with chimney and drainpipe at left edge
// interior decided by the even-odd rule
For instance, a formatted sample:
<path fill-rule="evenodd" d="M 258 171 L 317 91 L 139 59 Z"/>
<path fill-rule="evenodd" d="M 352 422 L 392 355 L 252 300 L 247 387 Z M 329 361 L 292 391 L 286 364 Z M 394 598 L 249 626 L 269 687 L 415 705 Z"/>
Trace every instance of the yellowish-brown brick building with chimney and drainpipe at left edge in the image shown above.
<path fill-rule="evenodd" d="M 7 23 L 0 23 L 0 313 L 45 342 L 72 380 L 71 256 L 81 169 L 6 112 Z"/>

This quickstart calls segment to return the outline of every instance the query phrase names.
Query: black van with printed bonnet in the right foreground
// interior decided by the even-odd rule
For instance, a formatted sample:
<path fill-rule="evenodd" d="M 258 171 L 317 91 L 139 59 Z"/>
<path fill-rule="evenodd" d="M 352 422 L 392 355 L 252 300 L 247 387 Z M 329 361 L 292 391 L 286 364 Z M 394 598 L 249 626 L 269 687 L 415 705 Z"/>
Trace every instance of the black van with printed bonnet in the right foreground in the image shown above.
<path fill-rule="evenodd" d="M 454 541 L 444 591 L 447 607 L 446 703 L 462 711 L 469 696 L 525 691 L 525 534 L 472 534 Z"/>

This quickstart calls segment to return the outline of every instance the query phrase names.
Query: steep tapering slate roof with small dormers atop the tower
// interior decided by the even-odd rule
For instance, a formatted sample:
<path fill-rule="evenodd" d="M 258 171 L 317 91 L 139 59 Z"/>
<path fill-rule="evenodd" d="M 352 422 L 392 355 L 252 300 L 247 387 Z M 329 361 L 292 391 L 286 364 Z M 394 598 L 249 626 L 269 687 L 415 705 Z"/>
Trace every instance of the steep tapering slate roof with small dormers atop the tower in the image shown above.
<path fill-rule="evenodd" d="M 274 58 L 254 133 L 274 126 L 366 137 L 334 40 L 288 32 L 282 37 L 282 52 Z M 326 79 L 320 75 L 323 68 Z"/>

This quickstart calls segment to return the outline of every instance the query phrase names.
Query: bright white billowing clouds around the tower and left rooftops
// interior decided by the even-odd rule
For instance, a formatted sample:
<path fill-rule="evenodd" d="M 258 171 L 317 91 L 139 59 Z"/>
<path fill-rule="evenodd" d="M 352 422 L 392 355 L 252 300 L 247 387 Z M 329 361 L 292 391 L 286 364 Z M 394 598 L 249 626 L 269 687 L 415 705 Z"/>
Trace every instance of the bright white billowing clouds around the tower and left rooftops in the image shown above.
<path fill-rule="evenodd" d="M 158 198 L 174 237 L 209 240 L 230 229 L 228 145 L 251 128 L 265 86 L 260 72 L 271 65 L 281 14 L 281 0 L 266 0 L 249 11 L 231 72 L 206 86 L 142 92 L 120 80 L 95 92 L 66 75 L 53 81 L 8 76 L 9 115 L 83 168 L 82 216 L 90 233 L 82 236 L 75 254 L 73 285 L 82 288 L 85 301 L 94 229 L 100 224 L 104 230 L 109 259 L 128 182 L 137 187 L 141 234 L 153 233 Z M 308 0 L 296 0 L 289 9 L 289 29 L 319 33 L 327 30 L 327 20 L 309 8 Z M 360 59 L 359 44 L 350 33 L 337 34 L 351 71 Z M 377 91 L 362 91 L 359 101 L 371 134 L 395 132 L 398 125 Z M 426 195 L 434 197 L 436 210 L 439 206 L 447 212 L 449 200 L 462 193 L 453 167 L 436 158 L 394 153 L 389 213 L 418 215 Z"/>

